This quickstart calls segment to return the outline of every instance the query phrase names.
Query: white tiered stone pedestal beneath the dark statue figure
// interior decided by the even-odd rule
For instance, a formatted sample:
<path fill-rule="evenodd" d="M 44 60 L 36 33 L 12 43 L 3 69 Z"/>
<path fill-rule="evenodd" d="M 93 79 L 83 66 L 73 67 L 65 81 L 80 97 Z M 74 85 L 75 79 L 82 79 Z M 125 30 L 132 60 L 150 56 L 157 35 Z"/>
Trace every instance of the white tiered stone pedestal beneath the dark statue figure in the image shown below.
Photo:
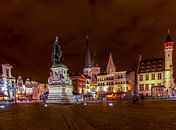
<path fill-rule="evenodd" d="M 63 64 L 51 67 L 52 73 L 48 79 L 49 94 L 46 103 L 75 103 L 72 82 L 67 74 L 68 68 Z"/>

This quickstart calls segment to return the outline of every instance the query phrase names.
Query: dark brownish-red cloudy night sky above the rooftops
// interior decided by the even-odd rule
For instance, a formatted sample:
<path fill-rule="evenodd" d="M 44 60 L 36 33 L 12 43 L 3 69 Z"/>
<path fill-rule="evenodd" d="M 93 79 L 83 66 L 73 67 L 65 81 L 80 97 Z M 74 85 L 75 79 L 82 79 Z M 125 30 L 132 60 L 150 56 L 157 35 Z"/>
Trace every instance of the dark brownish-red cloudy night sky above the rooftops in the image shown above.
<path fill-rule="evenodd" d="M 0 0 L 0 63 L 10 63 L 14 76 L 46 83 L 59 35 L 64 64 L 82 72 L 88 33 L 102 71 L 110 51 L 117 71 L 130 69 L 139 54 L 164 57 L 168 28 L 176 39 L 175 6 L 175 0 Z"/>

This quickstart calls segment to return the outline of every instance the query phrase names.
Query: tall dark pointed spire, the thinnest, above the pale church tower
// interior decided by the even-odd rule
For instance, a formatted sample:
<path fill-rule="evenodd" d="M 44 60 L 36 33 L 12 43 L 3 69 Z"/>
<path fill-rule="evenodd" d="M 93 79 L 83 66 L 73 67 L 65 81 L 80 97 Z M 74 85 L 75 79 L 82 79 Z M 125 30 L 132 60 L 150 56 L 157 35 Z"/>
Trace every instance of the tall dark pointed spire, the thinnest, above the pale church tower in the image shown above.
<path fill-rule="evenodd" d="M 91 68 L 91 56 L 90 56 L 90 50 L 89 50 L 89 41 L 88 41 L 88 35 L 86 36 L 86 61 L 85 61 L 85 68 Z"/>

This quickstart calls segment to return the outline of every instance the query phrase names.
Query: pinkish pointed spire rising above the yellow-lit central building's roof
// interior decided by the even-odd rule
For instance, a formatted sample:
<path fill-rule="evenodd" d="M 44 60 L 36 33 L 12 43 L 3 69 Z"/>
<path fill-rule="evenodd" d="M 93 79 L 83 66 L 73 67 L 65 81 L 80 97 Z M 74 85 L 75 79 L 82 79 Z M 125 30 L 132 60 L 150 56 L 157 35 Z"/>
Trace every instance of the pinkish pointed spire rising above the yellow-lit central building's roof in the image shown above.
<path fill-rule="evenodd" d="M 107 74 L 112 74 L 114 72 L 116 72 L 116 68 L 115 68 L 115 65 L 114 65 L 113 58 L 112 58 L 112 53 L 110 52 L 108 65 L 106 67 L 106 73 Z"/>

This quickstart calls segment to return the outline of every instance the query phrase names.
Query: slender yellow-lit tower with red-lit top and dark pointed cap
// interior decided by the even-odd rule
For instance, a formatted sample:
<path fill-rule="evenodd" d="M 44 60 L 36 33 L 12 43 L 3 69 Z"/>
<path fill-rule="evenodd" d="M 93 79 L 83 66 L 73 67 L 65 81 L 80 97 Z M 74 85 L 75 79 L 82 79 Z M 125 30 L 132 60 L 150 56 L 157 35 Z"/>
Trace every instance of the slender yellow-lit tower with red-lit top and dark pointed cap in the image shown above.
<path fill-rule="evenodd" d="M 174 42 L 171 40 L 170 32 L 168 30 L 168 35 L 166 41 L 164 42 L 165 51 L 165 72 L 164 72 L 164 86 L 165 92 L 168 96 L 173 95 L 174 89 L 174 78 L 173 78 L 173 45 Z"/>

